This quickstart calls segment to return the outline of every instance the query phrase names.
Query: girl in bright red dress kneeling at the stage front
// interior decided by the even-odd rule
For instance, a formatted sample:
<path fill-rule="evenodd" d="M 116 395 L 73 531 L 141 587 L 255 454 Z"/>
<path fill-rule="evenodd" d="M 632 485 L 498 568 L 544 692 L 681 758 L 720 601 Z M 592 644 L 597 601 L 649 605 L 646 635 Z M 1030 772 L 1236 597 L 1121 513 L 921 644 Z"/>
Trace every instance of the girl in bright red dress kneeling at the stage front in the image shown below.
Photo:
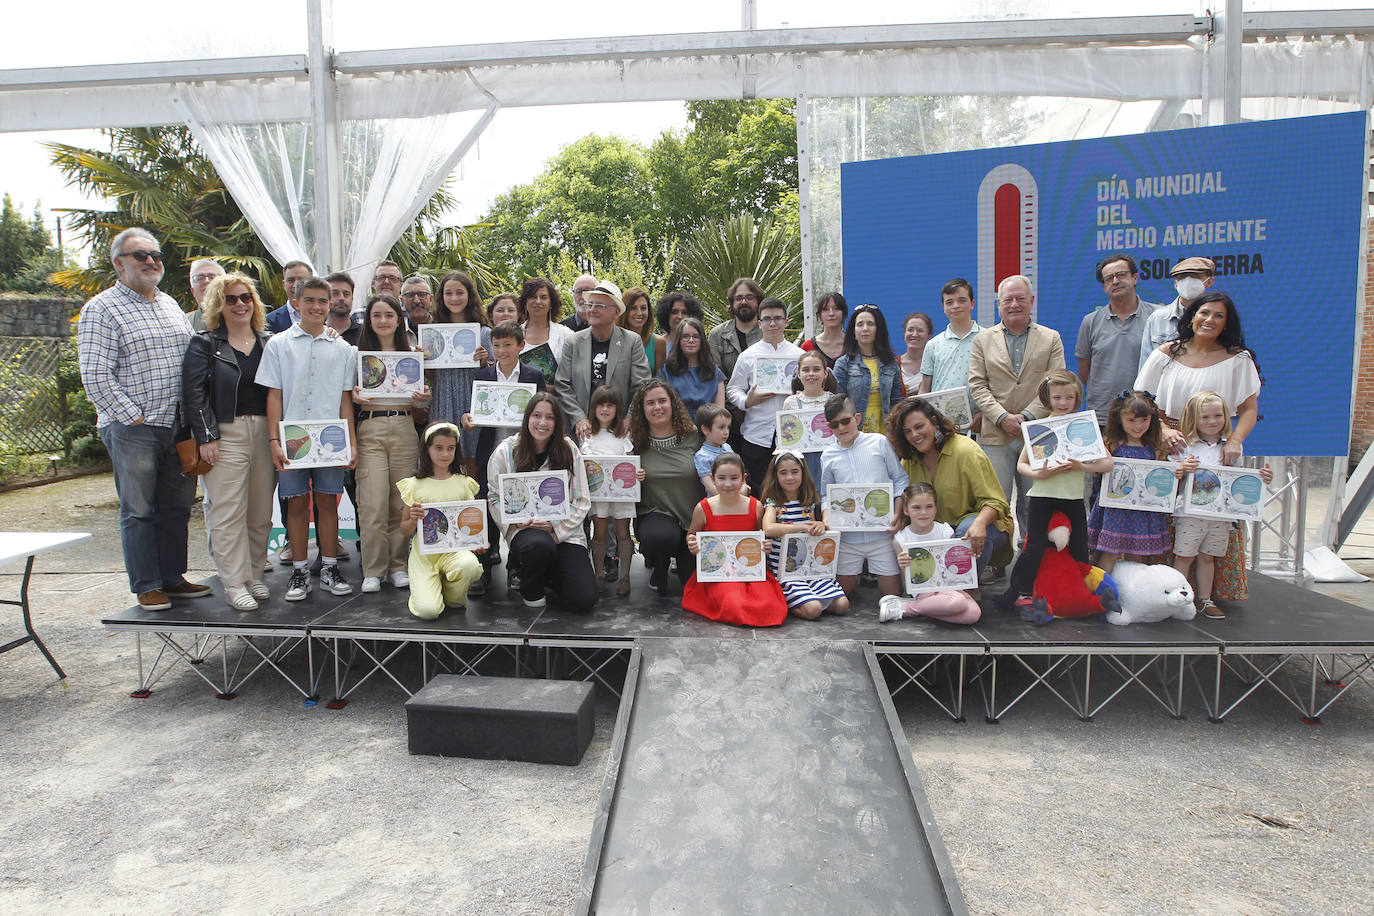
<path fill-rule="evenodd" d="M 763 529 L 763 505 L 752 496 L 741 496 L 745 464 L 734 452 L 716 456 L 710 466 L 716 496 L 706 497 L 692 511 L 687 529 L 687 548 L 698 553 L 697 531 L 758 531 Z M 697 574 L 683 588 L 683 610 L 723 623 L 778 626 L 787 619 L 787 599 L 772 573 L 761 582 L 698 582 Z"/>

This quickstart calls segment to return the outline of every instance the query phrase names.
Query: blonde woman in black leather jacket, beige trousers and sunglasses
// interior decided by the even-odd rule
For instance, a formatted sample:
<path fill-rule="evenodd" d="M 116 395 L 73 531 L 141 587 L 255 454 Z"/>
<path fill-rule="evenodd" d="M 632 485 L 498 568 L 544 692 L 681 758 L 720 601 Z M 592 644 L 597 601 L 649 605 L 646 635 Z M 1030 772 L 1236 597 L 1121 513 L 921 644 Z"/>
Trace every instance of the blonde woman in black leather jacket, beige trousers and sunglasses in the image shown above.
<path fill-rule="evenodd" d="M 253 280 L 216 277 L 202 304 L 206 330 L 181 360 L 181 405 L 205 474 L 210 542 L 229 607 L 254 611 L 268 597 L 262 584 L 272 529 L 276 468 L 267 428 L 267 389 L 257 385 L 267 343 L 267 310 Z"/>

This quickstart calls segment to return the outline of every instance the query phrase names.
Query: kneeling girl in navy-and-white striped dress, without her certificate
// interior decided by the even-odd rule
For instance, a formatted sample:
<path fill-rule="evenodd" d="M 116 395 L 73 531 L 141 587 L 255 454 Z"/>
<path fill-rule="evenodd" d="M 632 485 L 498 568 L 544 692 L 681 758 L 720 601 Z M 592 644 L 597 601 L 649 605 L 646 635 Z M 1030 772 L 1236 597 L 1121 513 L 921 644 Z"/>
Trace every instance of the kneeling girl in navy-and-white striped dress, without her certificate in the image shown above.
<path fill-rule="evenodd" d="M 764 477 L 763 499 L 763 527 L 771 540 L 768 564 L 776 577 L 785 534 L 826 533 L 816 482 L 798 452 L 774 455 Z M 782 582 L 782 592 L 787 599 L 787 610 L 802 619 L 813 621 L 824 611 L 844 614 L 849 610 L 849 599 L 833 578 Z"/>

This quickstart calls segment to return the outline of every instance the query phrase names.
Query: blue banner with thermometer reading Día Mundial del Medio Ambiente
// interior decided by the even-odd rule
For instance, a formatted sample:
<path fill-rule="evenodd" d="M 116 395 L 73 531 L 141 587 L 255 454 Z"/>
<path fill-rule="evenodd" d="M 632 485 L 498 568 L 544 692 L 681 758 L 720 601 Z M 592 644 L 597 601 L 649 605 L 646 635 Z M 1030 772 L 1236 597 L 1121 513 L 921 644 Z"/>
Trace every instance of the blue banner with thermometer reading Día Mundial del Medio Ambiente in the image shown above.
<path fill-rule="evenodd" d="M 1347 455 L 1359 306 L 1364 114 L 1263 121 L 973 150 L 841 166 L 845 298 L 900 321 L 948 324 L 940 287 L 973 283 L 996 323 L 996 283 L 1036 283 L 1036 320 L 1063 338 L 1106 304 L 1094 268 L 1140 265 L 1136 293 L 1175 299 L 1169 268 L 1216 262 L 1264 375 L 1250 455 Z"/>

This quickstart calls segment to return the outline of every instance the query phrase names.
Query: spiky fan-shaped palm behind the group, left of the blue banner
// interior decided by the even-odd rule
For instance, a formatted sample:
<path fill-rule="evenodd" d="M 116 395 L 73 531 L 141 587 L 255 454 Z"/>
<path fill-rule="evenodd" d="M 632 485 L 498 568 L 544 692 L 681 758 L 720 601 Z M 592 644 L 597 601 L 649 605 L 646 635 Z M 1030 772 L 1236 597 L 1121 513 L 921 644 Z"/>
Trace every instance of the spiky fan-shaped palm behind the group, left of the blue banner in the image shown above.
<path fill-rule="evenodd" d="M 728 317 L 730 284 L 753 277 L 764 293 L 787 304 L 789 327 L 800 327 L 801 239 L 772 217 L 758 222 L 747 213 L 694 229 L 677 254 L 673 271 L 692 290 L 706 313 L 706 327 Z"/>

